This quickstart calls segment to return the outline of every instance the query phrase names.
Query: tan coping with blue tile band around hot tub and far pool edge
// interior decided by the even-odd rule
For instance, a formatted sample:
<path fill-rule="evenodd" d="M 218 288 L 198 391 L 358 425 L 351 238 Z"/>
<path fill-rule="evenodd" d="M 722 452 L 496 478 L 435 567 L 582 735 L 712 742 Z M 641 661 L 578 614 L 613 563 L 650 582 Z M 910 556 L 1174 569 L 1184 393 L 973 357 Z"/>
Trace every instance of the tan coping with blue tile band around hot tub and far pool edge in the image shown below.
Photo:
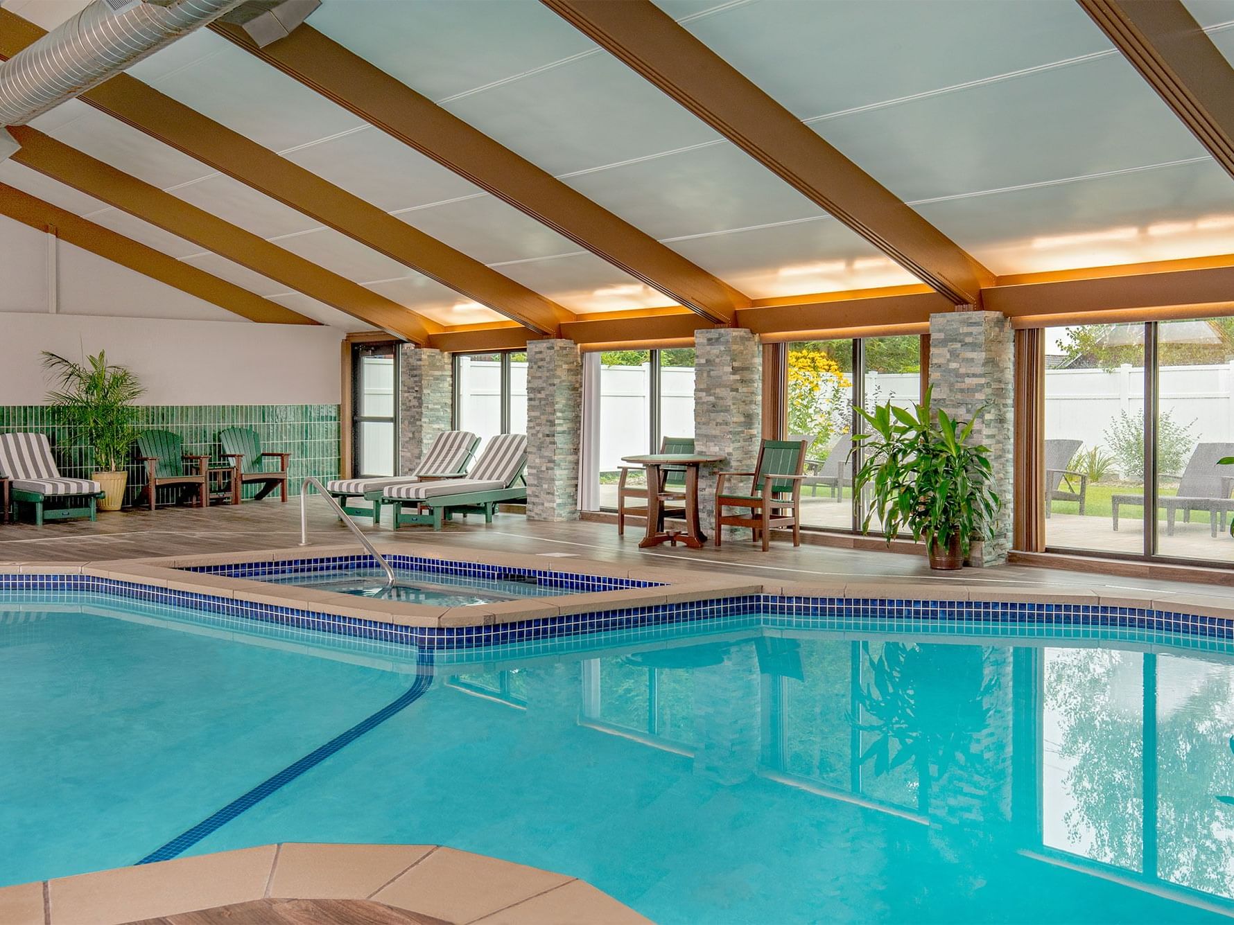
<path fill-rule="evenodd" d="M 329 591 L 252 578 L 183 571 L 189 567 L 285 562 L 363 555 L 357 544 L 218 553 L 81 562 L 0 564 L 0 586 L 112 592 L 158 603 L 252 617 L 306 629 L 431 649 L 463 649 L 580 635 L 647 623 L 674 623 L 727 617 L 766 608 L 801 625 L 838 610 L 866 620 L 880 615 L 928 622 L 960 620 L 1058 627 L 1116 627 L 1181 633 L 1214 641 L 1234 640 L 1234 597 L 1181 591 L 1102 586 L 966 585 L 956 578 L 847 581 L 765 581 L 714 576 L 687 569 L 644 567 L 585 557 L 552 559 L 526 553 L 478 551 L 437 540 L 379 543 L 397 556 L 434 559 L 460 565 L 494 565 L 539 574 L 574 574 L 656 582 L 648 587 L 529 597 L 500 603 L 429 607 L 357 598 Z M 14 583 L 14 577 L 17 583 Z M 63 582 L 56 581 L 59 576 Z M 73 576 L 86 581 L 75 582 Z M 44 586 L 38 581 L 46 577 Z M 1023 607 L 1021 607 L 1023 606 Z M 881 609 L 880 609 L 881 608 Z M 784 622 L 772 624 L 782 628 Z"/>

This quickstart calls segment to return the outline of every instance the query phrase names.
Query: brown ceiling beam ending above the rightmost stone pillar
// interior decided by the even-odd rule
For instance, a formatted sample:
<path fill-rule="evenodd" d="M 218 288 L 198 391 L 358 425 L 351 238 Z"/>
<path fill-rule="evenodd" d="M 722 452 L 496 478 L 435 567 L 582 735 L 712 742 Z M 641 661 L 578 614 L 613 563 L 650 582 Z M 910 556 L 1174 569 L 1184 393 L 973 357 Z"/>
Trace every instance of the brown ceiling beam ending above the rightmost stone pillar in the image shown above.
<path fill-rule="evenodd" d="M 650 0 L 542 2 L 950 303 L 980 306 L 990 270 Z"/>

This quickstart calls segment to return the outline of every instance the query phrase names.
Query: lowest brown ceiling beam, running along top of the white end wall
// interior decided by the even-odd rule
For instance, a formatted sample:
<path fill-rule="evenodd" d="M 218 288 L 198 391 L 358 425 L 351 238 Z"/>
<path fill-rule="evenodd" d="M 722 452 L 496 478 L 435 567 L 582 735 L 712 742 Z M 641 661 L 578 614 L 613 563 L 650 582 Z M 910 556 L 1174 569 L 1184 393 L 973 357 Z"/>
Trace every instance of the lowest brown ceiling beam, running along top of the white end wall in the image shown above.
<path fill-rule="evenodd" d="M 317 323 L 278 302 L 263 298 L 233 282 L 212 276 L 5 183 L 0 183 L 0 215 L 42 232 L 54 228 L 60 240 L 127 266 L 135 273 L 188 292 L 190 296 L 212 302 L 242 318 L 265 324 Z"/>

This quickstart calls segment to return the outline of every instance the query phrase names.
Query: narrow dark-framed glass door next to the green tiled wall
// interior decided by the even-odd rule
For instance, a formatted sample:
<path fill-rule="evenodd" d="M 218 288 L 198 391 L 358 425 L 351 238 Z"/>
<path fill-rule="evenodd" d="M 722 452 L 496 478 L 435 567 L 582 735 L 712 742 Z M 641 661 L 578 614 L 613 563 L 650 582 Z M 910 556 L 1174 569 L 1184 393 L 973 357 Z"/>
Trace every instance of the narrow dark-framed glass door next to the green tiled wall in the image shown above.
<path fill-rule="evenodd" d="M 396 364 L 392 343 L 352 348 L 352 470 L 358 479 L 395 474 Z"/>

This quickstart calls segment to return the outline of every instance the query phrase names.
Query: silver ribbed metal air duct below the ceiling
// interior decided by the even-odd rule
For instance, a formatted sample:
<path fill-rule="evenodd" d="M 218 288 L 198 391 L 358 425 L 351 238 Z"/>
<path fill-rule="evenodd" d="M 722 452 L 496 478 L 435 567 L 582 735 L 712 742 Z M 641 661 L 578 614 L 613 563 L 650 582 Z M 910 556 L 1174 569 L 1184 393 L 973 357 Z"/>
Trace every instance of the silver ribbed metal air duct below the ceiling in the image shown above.
<path fill-rule="evenodd" d="M 94 0 L 0 64 L 0 126 L 21 126 L 207 25 L 243 0 L 174 0 L 125 9 Z"/>

